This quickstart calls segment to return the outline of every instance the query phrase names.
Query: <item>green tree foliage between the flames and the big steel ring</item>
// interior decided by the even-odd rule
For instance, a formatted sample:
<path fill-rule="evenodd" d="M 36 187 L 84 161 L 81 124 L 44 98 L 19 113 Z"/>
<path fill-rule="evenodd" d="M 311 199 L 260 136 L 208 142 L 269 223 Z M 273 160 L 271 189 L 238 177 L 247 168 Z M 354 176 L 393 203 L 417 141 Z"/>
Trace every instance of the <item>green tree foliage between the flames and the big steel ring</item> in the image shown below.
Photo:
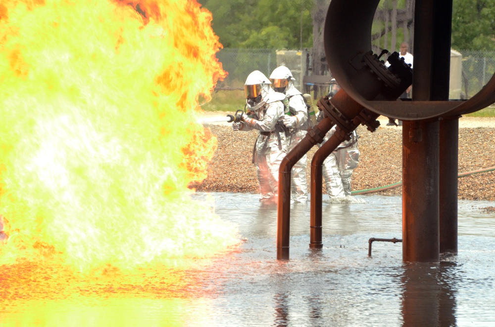
<path fill-rule="evenodd" d="M 224 47 L 312 46 L 311 0 L 204 0 Z M 302 43 L 302 44 L 301 44 Z"/>

